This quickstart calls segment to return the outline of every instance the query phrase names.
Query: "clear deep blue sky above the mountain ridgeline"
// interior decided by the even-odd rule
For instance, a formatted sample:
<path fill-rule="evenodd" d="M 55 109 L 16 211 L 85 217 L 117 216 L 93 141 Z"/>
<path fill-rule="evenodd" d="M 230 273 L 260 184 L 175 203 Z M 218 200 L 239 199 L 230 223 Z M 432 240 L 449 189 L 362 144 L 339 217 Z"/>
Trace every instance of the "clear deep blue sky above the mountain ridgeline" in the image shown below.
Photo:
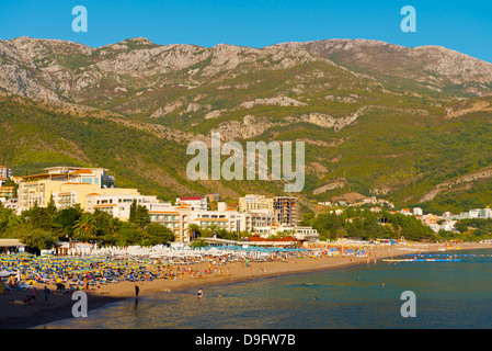
<path fill-rule="evenodd" d="M 71 10 L 88 10 L 75 33 Z M 416 10 L 403 33 L 401 8 Z M 492 63 L 492 1 L 434 0 L 0 0 L 0 38 L 59 38 L 92 47 L 144 36 L 156 44 L 264 47 L 328 38 L 439 45 Z"/>

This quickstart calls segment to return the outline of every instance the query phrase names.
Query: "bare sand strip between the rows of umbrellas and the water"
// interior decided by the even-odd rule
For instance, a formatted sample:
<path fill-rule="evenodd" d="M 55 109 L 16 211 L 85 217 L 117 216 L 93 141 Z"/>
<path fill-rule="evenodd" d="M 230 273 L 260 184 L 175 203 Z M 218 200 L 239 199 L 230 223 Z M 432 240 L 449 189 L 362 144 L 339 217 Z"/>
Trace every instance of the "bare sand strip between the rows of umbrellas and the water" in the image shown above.
<path fill-rule="evenodd" d="M 435 252 L 443 245 L 430 244 L 420 252 Z M 461 250 L 492 248 L 492 245 L 485 244 L 460 244 Z M 368 257 L 320 257 L 320 258 L 299 258 L 287 261 L 273 262 L 250 262 L 245 267 L 244 262 L 231 262 L 219 265 L 222 273 L 209 274 L 201 278 L 190 275 L 179 276 L 178 279 L 158 279 L 153 281 L 145 281 L 138 283 L 140 296 L 155 294 L 159 292 L 170 291 L 170 293 L 184 288 L 204 287 L 228 284 L 251 279 L 278 276 L 284 274 L 294 274 L 301 272 L 310 272 L 317 270 L 340 269 L 355 264 L 387 264 L 381 262 L 385 258 L 397 258 L 407 253 L 417 253 L 417 251 L 407 251 L 390 246 L 376 247 L 367 251 Z M 447 250 L 446 253 L 459 253 L 459 250 Z M 377 260 L 377 263 L 375 262 Z M 209 267 L 208 262 L 192 264 L 194 270 L 204 271 Z M 38 295 L 34 306 L 25 306 L 23 304 L 13 304 L 11 301 L 23 301 L 27 292 L 10 292 L 4 291 L 0 295 L 0 328 L 2 329 L 25 329 L 50 321 L 60 320 L 72 317 L 71 308 L 75 301 L 70 294 L 55 293 L 55 286 L 48 284 L 52 294 L 48 298 L 48 306 L 45 306 L 44 288 L 45 284 L 36 283 Z M 105 304 L 135 297 L 135 283 L 119 282 L 115 284 L 106 284 L 101 286 L 101 295 L 95 290 L 88 292 L 89 314 L 91 309 L 99 308 Z"/>

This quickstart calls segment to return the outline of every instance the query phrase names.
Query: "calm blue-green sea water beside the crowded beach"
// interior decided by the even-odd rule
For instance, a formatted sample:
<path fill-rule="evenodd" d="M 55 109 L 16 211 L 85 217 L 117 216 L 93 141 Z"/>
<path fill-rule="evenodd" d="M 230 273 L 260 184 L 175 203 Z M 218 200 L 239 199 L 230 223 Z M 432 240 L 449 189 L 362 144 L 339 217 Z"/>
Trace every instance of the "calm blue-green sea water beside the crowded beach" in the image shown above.
<path fill-rule="evenodd" d="M 46 328 L 491 328 L 492 250 L 460 262 L 402 262 L 205 286 L 118 302 Z M 403 318 L 401 293 L 416 296 Z M 218 297 L 218 295 L 221 297 Z M 313 296 L 317 298 L 314 299 Z M 90 301 L 89 301 L 90 303 Z"/>

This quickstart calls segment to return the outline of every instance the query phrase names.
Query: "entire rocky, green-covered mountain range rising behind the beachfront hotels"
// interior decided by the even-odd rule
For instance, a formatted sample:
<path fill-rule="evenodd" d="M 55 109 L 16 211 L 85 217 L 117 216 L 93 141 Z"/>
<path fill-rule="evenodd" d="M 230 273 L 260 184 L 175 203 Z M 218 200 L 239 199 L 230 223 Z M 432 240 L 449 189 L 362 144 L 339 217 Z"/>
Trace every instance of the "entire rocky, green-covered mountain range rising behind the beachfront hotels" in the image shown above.
<path fill-rule="evenodd" d="M 492 201 L 492 64 L 439 47 L 328 39 L 264 48 L 92 48 L 0 39 L 0 162 L 105 167 L 119 186 L 173 200 L 282 195 L 279 181 L 191 181 L 186 146 L 306 144 L 306 207 L 377 196 L 462 211 Z"/>

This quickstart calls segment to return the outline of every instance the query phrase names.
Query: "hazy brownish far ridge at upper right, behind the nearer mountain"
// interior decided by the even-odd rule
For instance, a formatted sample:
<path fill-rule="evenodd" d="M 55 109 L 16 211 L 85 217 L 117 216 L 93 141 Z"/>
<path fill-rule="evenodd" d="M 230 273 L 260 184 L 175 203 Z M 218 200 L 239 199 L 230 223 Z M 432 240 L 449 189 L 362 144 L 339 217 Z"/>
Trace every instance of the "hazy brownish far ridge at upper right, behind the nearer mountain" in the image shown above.
<path fill-rule="evenodd" d="M 403 47 L 379 41 L 330 39 L 271 47 L 302 49 L 378 78 L 410 80 L 446 94 L 492 93 L 492 64 L 442 46 Z"/>

